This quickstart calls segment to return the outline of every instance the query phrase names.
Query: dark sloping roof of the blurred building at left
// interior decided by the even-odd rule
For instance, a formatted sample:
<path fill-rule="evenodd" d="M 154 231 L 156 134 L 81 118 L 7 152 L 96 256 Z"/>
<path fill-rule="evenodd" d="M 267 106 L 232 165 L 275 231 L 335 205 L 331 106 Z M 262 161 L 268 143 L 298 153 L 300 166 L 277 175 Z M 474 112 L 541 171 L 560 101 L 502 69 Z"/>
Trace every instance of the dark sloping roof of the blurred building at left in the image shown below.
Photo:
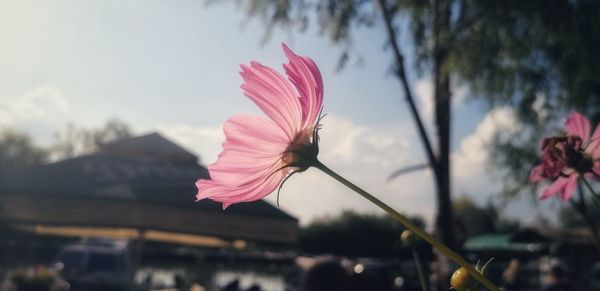
<path fill-rule="evenodd" d="M 195 181 L 208 177 L 198 157 L 158 133 L 123 139 L 100 151 L 8 174 L 2 192 L 127 199 L 222 212 L 220 203 L 195 201 Z M 296 220 L 265 201 L 234 204 L 228 213 Z"/>

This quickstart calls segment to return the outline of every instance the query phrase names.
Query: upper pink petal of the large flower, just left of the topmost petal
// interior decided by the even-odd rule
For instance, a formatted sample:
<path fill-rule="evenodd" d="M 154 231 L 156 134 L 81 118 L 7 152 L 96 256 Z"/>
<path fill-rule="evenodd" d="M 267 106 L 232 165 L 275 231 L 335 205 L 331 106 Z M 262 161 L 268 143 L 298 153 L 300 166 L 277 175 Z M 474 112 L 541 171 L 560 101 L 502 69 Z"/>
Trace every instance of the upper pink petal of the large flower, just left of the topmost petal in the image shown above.
<path fill-rule="evenodd" d="M 302 126 L 302 112 L 297 94 L 289 82 L 277 71 L 257 62 L 241 67 L 244 95 L 254 101 L 286 133 L 289 140 L 295 138 Z"/>

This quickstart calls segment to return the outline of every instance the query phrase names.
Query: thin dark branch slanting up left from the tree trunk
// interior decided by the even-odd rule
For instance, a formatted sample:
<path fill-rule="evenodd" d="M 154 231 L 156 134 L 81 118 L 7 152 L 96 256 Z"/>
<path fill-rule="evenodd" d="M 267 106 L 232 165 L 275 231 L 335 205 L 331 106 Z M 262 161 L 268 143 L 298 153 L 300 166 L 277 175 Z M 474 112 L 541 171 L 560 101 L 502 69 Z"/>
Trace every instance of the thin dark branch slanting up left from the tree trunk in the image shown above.
<path fill-rule="evenodd" d="M 434 168 L 434 171 L 437 172 L 437 158 L 435 156 L 435 153 L 433 152 L 433 148 L 431 147 L 429 136 L 425 131 L 425 126 L 423 125 L 421 115 L 417 110 L 415 100 L 410 90 L 410 86 L 408 85 L 408 79 L 406 77 L 406 71 L 404 68 L 404 56 L 402 55 L 400 47 L 398 46 L 396 32 L 392 25 L 392 16 L 390 15 L 390 12 L 387 6 L 385 5 L 384 0 L 377 0 L 377 4 L 379 5 L 381 13 L 383 14 L 385 28 L 389 37 L 390 44 L 392 45 L 392 49 L 394 51 L 394 57 L 396 59 L 396 75 L 398 76 L 398 78 L 400 78 L 400 82 L 402 83 L 402 88 L 404 89 L 404 96 L 406 97 L 406 101 L 408 102 L 410 112 L 412 113 L 413 119 L 417 125 L 417 129 L 421 137 L 421 141 L 423 142 L 423 146 L 425 147 L 425 153 L 427 155 L 427 159 L 429 160 L 429 164 Z"/>

